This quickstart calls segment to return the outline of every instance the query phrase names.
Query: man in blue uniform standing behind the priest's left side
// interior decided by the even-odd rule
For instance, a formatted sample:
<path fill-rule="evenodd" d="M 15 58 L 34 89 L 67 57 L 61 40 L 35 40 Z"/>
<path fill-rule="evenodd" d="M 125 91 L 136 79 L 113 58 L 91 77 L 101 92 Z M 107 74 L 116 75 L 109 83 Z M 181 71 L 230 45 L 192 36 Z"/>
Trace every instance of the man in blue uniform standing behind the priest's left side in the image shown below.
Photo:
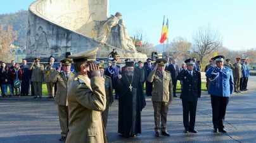
<path fill-rule="evenodd" d="M 112 81 L 113 89 L 116 89 L 117 87 L 114 86 L 114 81 L 115 78 L 118 77 L 119 74 L 121 74 L 120 66 L 117 66 L 117 60 L 113 59 L 112 61 L 112 66 L 108 67 L 106 70 L 106 76 L 109 76 Z M 115 92 L 115 100 L 118 100 L 118 93 Z"/>

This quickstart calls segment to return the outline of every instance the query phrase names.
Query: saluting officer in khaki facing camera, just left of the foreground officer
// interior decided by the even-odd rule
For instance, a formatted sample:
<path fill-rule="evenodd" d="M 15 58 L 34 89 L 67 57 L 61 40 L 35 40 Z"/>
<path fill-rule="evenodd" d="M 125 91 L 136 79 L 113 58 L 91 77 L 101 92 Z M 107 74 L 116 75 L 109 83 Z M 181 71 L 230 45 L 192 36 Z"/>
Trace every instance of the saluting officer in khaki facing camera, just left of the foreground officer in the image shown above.
<path fill-rule="evenodd" d="M 67 103 L 67 91 L 68 86 L 71 83 L 75 73 L 70 71 L 71 59 L 61 59 L 60 66 L 57 71 L 51 71 L 51 82 L 57 83 L 57 91 L 55 95 L 54 103 L 58 105 L 61 138 L 65 140 L 68 133 L 68 103 Z M 61 71 L 62 69 L 62 71 Z"/>

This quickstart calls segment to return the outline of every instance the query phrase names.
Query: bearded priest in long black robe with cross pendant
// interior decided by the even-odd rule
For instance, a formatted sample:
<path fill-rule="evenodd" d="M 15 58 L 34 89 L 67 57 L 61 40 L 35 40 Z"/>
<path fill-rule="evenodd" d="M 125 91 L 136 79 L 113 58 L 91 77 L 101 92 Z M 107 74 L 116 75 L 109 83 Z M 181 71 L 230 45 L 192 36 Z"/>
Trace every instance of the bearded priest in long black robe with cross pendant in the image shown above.
<path fill-rule="evenodd" d="M 125 137 L 141 134 L 141 111 L 146 105 L 141 78 L 134 74 L 133 62 L 125 62 L 125 74 L 115 79 L 118 94 L 118 133 Z"/>

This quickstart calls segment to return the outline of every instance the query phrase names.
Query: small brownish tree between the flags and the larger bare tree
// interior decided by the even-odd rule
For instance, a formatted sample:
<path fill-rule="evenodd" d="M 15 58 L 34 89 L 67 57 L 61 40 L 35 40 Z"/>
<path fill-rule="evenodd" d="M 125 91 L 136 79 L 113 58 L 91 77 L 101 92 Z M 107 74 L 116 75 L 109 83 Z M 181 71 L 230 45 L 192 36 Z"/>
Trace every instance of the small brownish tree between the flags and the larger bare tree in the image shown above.
<path fill-rule="evenodd" d="M 169 53 L 173 59 L 184 60 L 188 59 L 190 49 L 191 43 L 186 38 L 176 37 L 170 43 Z"/>

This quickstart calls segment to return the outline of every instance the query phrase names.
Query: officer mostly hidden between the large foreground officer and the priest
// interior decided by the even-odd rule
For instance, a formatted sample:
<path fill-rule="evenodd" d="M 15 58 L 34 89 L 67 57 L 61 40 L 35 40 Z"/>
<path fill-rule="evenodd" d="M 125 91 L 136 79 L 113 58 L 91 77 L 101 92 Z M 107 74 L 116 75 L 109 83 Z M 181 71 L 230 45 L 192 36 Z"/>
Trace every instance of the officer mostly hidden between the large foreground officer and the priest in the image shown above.
<path fill-rule="evenodd" d="M 112 81 L 109 76 L 104 75 L 104 62 L 99 62 L 99 72 L 101 72 L 101 77 L 105 79 L 105 91 L 106 91 L 106 109 L 102 112 L 103 118 L 103 125 L 106 129 L 106 123 L 108 121 L 108 109 L 112 105 L 114 98 L 113 98 L 113 88 L 112 88 Z"/>

